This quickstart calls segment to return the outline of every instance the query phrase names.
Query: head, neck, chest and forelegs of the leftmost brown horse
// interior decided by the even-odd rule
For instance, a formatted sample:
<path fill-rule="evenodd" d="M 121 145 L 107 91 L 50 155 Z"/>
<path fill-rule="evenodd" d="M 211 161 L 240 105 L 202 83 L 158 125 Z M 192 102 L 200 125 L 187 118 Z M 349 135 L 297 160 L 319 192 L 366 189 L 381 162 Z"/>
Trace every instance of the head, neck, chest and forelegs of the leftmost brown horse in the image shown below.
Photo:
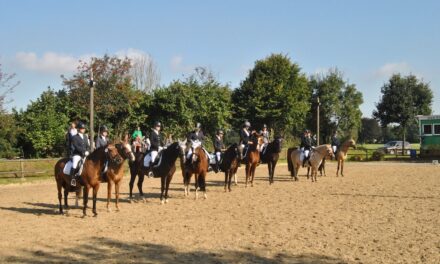
<path fill-rule="evenodd" d="M 96 212 L 96 198 L 99 190 L 101 172 L 104 169 L 105 162 L 108 162 L 109 168 L 121 166 L 124 159 L 119 154 L 118 149 L 114 144 L 109 144 L 106 147 L 95 149 L 84 161 L 84 168 L 81 173 L 81 179 L 84 183 L 84 207 L 83 216 L 87 215 L 87 203 L 89 201 L 89 190 L 93 188 L 93 215 L 97 216 Z"/>

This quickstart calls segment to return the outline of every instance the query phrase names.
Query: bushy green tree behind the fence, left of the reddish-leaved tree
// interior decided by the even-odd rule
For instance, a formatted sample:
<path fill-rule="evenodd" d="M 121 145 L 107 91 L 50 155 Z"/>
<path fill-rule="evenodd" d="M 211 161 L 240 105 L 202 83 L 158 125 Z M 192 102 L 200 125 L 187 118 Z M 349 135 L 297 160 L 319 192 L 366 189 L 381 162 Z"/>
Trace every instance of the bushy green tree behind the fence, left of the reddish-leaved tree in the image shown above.
<path fill-rule="evenodd" d="M 63 92 L 50 87 L 25 111 L 15 112 L 22 128 L 18 144 L 26 156 L 59 157 L 64 153 L 69 122 L 66 112 Z"/>

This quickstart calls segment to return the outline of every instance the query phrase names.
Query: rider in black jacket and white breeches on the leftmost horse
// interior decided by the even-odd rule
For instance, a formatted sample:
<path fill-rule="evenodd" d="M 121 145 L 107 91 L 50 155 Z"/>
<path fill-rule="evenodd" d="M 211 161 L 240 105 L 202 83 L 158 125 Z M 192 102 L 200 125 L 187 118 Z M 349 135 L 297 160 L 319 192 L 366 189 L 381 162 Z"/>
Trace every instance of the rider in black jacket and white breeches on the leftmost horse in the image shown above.
<path fill-rule="evenodd" d="M 89 155 L 90 143 L 85 133 L 86 125 L 83 122 L 78 123 L 78 133 L 72 138 L 72 168 L 70 169 L 71 185 L 76 186 L 76 175 L 74 172 L 78 168 L 80 160 Z"/>

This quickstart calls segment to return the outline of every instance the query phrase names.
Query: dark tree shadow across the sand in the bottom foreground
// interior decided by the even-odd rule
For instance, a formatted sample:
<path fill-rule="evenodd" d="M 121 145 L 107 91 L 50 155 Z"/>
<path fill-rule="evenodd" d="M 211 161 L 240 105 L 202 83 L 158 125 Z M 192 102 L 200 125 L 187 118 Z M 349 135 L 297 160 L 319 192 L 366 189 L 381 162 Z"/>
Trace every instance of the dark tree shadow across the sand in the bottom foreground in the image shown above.
<path fill-rule="evenodd" d="M 20 256 L 0 257 L 0 260 L 20 263 L 346 263 L 338 258 L 317 254 L 278 253 L 266 257 L 251 250 L 181 252 L 165 245 L 109 238 L 93 238 L 83 245 L 67 249 L 54 249 L 53 246 L 37 251 L 23 249 Z"/>

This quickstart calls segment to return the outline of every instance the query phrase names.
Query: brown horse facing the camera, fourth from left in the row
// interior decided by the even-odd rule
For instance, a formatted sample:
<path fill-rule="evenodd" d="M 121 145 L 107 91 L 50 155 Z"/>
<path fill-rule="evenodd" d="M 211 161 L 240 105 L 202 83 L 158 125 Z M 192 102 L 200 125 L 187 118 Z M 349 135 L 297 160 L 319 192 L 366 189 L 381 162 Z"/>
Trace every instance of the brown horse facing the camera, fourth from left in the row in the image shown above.
<path fill-rule="evenodd" d="M 184 169 L 184 185 L 185 196 L 189 196 L 191 177 L 194 174 L 194 185 L 196 188 L 196 200 L 198 199 L 198 190 L 203 192 L 205 199 L 208 198 L 206 194 L 206 174 L 208 173 L 209 157 L 206 151 L 201 147 L 193 150 L 191 163 L 185 166 Z"/>

